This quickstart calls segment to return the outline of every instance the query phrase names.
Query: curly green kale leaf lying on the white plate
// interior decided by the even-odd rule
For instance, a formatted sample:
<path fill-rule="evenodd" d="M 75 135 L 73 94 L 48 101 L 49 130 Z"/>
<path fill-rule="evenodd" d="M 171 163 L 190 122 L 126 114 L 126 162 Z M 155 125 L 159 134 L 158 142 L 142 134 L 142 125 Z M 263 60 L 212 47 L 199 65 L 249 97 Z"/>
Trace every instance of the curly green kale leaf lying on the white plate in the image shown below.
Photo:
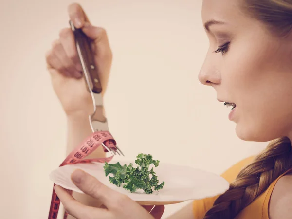
<path fill-rule="evenodd" d="M 153 193 L 154 190 L 160 190 L 164 187 L 164 182 L 159 183 L 154 167 L 149 170 L 151 164 L 155 167 L 159 165 L 158 160 L 153 160 L 150 154 L 138 154 L 135 160 L 137 167 L 134 167 L 132 163 L 121 165 L 119 162 L 116 164 L 104 165 L 104 171 L 106 176 L 109 176 L 110 183 L 115 184 L 118 187 L 129 190 L 130 192 L 136 192 L 137 189 L 143 189 L 146 194 Z"/>

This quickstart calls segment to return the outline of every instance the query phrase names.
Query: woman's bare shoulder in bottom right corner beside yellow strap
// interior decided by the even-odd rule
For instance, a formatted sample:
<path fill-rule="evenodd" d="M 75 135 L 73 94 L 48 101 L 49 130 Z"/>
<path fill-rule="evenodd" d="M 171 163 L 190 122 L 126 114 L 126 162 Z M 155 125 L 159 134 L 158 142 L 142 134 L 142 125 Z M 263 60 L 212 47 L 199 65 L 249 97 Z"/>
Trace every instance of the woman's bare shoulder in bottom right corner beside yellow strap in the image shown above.
<path fill-rule="evenodd" d="M 275 184 L 269 216 L 270 219 L 292 219 L 292 174 L 281 177 Z"/>

